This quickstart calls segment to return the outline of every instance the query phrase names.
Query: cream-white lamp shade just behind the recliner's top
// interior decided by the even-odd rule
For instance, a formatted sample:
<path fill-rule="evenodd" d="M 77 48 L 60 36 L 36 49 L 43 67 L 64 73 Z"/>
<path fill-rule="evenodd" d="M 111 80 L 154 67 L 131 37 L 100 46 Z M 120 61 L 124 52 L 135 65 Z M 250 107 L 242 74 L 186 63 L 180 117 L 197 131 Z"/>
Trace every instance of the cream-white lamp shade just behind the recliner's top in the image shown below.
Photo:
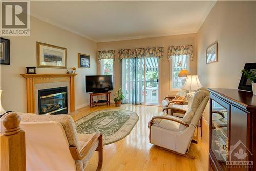
<path fill-rule="evenodd" d="M 195 91 L 202 87 L 197 75 L 187 75 L 186 82 L 182 89 Z"/>

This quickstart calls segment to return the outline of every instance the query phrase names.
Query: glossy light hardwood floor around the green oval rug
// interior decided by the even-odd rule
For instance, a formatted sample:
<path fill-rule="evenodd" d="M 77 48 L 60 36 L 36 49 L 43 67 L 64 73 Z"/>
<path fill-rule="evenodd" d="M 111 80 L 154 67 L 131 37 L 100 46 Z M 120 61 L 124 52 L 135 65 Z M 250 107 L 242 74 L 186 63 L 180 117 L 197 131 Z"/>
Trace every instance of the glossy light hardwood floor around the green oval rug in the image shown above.
<path fill-rule="evenodd" d="M 189 154 L 195 159 L 189 159 L 169 151 L 160 149 L 148 142 L 147 123 L 152 116 L 161 111 L 158 106 L 143 106 L 123 104 L 121 107 L 90 106 L 75 111 L 72 115 L 78 120 L 90 112 L 108 108 L 120 108 L 132 110 L 139 115 L 139 121 L 132 132 L 124 139 L 113 144 L 103 146 L 102 170 L 208 170 L 208 125 L 203 123 L 203 137 L 200 135 L 200 127 L 196 129 L 194 138 L 198 144 L 191 144 Z M 98 153 L 95 152 L 86 170 L 96 170 Z"/>

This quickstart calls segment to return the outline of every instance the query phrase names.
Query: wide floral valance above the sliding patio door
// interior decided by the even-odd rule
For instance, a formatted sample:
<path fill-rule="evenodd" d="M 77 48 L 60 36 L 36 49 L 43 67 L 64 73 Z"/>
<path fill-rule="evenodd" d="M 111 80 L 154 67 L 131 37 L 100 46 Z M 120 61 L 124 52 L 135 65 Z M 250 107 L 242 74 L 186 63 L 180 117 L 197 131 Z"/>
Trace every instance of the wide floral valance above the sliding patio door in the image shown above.
<path fill-rule="evenodd" d="M 158 57 L 163 58 L 163 47 L 119 49 L 118 61 L 123 58 Z"/>

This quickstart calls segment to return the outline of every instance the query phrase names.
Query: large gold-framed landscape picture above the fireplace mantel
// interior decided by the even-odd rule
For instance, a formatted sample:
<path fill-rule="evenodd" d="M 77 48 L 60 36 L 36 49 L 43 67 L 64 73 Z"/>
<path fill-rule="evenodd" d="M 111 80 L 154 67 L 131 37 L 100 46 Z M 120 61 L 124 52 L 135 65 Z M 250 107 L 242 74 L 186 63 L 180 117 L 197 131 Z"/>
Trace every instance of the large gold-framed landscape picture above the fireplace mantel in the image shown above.
<path fill-rule="evenodd" d="M 67 68 L 67 49 L 36 42 L 37 67 Z"/>

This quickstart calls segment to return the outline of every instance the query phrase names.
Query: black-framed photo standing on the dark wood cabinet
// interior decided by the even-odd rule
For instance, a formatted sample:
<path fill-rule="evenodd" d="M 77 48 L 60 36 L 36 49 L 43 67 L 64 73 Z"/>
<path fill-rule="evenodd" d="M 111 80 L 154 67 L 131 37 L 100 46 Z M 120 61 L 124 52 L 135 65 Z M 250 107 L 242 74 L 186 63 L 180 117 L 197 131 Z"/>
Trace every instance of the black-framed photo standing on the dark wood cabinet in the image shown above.
<path fill-rule="evenodd" d="M 256 63 L 246 63 L 244 66 L 244 70 L 247 70 L 249 72 L 253 72 L 254 74 L 256 74 Z M 245 77 L 244 74 L 242 74 L 241 76 L 238 89 L 252 92 L 251 81 L 247 77 Z"/>

